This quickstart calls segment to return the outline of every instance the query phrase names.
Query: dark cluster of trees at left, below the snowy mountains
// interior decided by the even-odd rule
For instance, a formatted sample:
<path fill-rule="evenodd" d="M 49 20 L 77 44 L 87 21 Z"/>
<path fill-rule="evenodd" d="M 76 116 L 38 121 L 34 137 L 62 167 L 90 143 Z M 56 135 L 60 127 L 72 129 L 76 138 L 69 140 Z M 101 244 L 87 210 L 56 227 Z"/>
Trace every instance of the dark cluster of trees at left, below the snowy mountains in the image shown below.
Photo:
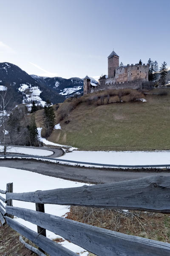
<path fill-rule="evenodd" d="M 4 145 L 3 153 L 6 154 L 8 145 L 41 146 L 35 112 L 43 109 L 42 106 L 33 101 L 30 112 L 26 105 L 19 105 L 7 112 L 9 102 L 6 88 L 0 91 L 0 142 Z M 43 124 L 45 136 L 48 137 L 55 125 L 54 108 L 49 100 L 45 102 Z"/>

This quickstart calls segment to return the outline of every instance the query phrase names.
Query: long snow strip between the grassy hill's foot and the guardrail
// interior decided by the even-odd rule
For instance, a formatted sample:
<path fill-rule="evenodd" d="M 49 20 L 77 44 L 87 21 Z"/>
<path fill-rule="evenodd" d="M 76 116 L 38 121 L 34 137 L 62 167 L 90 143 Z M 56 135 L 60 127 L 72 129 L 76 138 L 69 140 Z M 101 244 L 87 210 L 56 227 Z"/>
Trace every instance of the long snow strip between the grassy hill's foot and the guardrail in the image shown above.
<path fill-rule="evenodd" d="M 170 164 L 170 151 L 72 151 L 58 158 L 114 165 L 156 165 Z"/>

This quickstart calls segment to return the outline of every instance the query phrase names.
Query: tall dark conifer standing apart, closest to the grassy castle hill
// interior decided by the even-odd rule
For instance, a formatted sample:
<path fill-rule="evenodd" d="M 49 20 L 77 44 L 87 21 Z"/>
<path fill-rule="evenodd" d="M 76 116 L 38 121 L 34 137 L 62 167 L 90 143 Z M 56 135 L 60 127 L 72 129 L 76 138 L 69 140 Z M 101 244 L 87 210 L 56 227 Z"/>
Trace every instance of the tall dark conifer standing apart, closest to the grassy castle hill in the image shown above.
<path fill-rule="evenodd" d="M 55 125 L 55 113 L 52 104 L 49 100 L 45 102 L 43 121 L 46 135 L 49 136 Z"/>

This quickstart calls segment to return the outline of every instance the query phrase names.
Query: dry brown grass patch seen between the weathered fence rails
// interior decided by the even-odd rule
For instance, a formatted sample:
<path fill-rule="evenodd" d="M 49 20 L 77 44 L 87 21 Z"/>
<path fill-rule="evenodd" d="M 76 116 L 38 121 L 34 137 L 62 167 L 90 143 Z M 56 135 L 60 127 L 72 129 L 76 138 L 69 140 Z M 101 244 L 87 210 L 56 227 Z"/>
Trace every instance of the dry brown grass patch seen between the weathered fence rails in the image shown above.
<path fill-rule="evenodd" d="M 127 235 L 170 242 L 170 217 L 161 213 L 71 206 L 68 218 Z"/>

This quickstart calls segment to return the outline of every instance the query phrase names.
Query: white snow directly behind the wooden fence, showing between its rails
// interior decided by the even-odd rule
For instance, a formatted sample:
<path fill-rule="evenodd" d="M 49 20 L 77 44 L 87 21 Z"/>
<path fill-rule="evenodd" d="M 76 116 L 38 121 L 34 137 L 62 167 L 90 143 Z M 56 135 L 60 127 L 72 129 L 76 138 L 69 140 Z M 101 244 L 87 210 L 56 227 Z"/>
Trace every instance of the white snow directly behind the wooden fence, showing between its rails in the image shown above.
<path fill-rule="evenodd" d="M 5 175 L 3 175 L 4 173 Z M 36 190 L 78 187 L 85 185 L 85 183 L 63 180 L 55 177 L 41 175 L 34 172 L 8 167 L 0 167 L 0 177 L 0 189 L 6 190 L 6 183 L 13 182 L 14 192 L 16 193 L 31 192 Z M 5 198 L 5 195 L 2 196 Z M 13 206 L 35 210 L 34 203 L 13 200 Z M 69 206 L 45 204 L 45 212 L 62 217 L 63 215 L 66 215 L 67 212 L 69 212 Z M 36 225 L 31 224 L 28 221 L 24 221 L 21 218 L 15 217 L 15 220 L 37 232 Z M 47 237 L 50 239 L 55 239 L 61 236 L 58 236 L 47 230 Z M 63 246 L 67 247 L 70 250 L 74 250 L 75 253 L 85 252 L 85 250 L 82 249 L 81 247 L 69 243 L 67 241 L 61 242 L 60 244 L 62 244 Z"/>

